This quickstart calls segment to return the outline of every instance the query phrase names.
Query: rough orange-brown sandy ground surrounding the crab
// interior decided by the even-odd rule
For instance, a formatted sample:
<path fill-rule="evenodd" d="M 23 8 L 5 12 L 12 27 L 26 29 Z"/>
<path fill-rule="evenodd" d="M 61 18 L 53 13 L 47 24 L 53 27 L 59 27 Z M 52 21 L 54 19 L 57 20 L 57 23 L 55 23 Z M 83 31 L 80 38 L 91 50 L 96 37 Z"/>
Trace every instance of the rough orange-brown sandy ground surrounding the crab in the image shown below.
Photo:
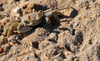
<path fill-rule="evenodd" d="M 65 7 L 59 23 L 3 35 L 28 13 Z M 0 0 L 0 61 L 100 61 L 100 0 Z"/>

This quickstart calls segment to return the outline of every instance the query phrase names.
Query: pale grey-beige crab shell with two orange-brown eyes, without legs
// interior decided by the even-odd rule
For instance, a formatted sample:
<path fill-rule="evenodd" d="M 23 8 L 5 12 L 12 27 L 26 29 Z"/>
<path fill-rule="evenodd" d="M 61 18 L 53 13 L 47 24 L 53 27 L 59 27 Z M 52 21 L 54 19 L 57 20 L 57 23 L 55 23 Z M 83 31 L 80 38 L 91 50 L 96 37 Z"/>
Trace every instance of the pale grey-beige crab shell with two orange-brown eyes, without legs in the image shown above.
<path fill-rule="evenodd" d="M 28 17 L 30 17 L 30 18 L 28 18 Z M 27 20 L 29 22 L 27 22 Z M 43 20 L 43 14 L 40 12 L 33 12 L 33 13 L 27 14 L 21 18 L 21 21 L 23 23 L 26 21 L 24 24 L 26 26 L 37 26 L 38 24 L 40 24 L 42 22 L 42 20 Z"/>

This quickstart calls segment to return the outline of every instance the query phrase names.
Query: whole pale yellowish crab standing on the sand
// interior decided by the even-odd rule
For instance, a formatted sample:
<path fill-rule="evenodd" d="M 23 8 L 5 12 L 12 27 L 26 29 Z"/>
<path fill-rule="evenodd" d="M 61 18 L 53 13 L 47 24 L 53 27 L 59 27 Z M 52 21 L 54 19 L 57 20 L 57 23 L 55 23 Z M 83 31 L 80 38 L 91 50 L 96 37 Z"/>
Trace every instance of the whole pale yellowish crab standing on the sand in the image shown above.
<path fill-rule="evenodd" d="M 62 8 L 65 9 L 65 8 Z M 53 19 L 60 21 L 58 15 L 62 15 L 58 10 L 62 9 L 55 9 L 55 10 L 46 10 L 41 12 L 33 12 L 29 13 L 21 18 L 21 20 L 9 22 L 4 26 L 3 34 L 7 35 L 9 38 L 10 34 L 17 30 L 19 33 L 25 33 L 33 29 L 37 25 L 48 25 L 50 24 Z"/>

